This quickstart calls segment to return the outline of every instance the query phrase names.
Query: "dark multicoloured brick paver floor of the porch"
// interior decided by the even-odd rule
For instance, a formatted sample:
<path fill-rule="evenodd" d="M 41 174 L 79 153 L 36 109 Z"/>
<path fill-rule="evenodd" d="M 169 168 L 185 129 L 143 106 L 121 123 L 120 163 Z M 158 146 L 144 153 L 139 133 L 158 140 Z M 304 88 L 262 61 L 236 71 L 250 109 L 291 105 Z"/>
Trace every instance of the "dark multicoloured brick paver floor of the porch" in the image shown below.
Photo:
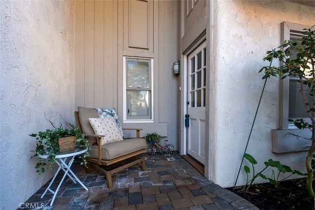
<path fill-rule="evenodd" d="M 258 210 L 247 200 L 207 180 L 176 151 L 143 156 L 146 171 L 138 164 L 114 174 L 111 189 L 105 175 L 95 170 L 86 174 L 77 159 L 71 168 L 88 191 L 68 178 L 52 207 L 50 192 L 40 198 L 48 183 L 26 203 L 42 205 L 45 210 Z M 56 188 L 58 181 L 53 185 Z"/>

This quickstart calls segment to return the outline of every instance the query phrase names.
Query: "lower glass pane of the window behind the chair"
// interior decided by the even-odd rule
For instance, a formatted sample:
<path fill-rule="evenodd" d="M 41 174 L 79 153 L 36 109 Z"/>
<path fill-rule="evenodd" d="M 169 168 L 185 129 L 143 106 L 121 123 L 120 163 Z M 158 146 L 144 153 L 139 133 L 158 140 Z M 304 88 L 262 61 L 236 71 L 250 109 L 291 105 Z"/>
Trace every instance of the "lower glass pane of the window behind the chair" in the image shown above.
<path fill-rule="evenodd" d="M 127 90 L 127 116 L 144 116 L 151 119 L 151 91 Z M 147 119 L 147 118 L 145 118 Z"/>

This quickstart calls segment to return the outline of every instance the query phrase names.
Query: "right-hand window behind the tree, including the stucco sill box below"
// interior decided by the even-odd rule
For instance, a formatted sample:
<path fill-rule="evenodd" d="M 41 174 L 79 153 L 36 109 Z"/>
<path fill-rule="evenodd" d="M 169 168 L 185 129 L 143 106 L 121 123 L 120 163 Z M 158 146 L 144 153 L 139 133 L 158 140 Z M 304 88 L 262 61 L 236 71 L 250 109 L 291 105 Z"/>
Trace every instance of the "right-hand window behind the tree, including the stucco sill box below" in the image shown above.
<path fill-rule="evenodd" d="M 302 37 L 302 31 L 311 26 L 283 22 L 281 24 L 281 43 L 284 40 L 297 40 Z M 294 53 L 292 56 L 294 58 Z M 272 130 L 272 151 L 276 153 L 304 151 L 310 147 L 312 132 L 309 129 L 298 129 L 288 119 L 304 119 L 307 117 L 304 105 L 301 103 L 301 93 L 297 78 L 280 79 L 279 129 Z M 311 99 L 312 100 L 312 99 Z"/>

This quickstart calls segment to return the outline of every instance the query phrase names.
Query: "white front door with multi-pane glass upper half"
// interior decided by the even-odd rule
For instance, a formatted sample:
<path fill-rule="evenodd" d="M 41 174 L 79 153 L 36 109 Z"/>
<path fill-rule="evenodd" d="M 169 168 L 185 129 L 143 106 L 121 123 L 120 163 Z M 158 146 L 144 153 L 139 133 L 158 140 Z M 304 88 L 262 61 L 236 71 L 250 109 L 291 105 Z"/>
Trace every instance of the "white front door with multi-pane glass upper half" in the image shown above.
<path fill-rule="evenodd" d="M 187 153 L 205 163 L 206 42 L 188 56 Z"/>

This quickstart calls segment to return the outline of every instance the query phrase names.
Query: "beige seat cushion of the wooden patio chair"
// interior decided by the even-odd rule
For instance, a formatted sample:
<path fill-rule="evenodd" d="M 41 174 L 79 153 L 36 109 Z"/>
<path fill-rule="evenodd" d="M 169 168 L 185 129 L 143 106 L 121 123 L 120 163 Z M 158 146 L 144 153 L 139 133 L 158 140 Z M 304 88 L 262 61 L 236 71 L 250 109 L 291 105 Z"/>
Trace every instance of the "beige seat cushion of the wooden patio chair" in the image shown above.
<path fill-rule="evenodd" d="M 146 149 L 147 143 L 144 139 L 134 138 L 134 139 L 125 139 L 122 142 L 115 142 L 112 144 L 107 144 L 102 146 L 102 159 L 111 160 L 116 157 L 123 156 L 138 150 Z M 98 158 L 98 146 L 97 144 L 92 145 L 90 150 L 91 158 Z"/>

